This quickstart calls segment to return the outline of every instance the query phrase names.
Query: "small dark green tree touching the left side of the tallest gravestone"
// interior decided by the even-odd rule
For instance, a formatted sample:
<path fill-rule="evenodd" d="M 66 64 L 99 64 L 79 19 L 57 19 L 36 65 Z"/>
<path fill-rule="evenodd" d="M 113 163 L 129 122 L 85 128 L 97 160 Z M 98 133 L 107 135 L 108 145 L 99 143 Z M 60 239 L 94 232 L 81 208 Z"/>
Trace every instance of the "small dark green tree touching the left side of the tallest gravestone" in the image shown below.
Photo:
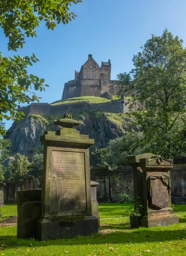
<path fill-rule="evenodd" d="M 43 154 L 36 154 L 30 166 L 29 175 L 34 175 L 38 178 L 39 182 L 42 182 L 43 172 Z"/>

